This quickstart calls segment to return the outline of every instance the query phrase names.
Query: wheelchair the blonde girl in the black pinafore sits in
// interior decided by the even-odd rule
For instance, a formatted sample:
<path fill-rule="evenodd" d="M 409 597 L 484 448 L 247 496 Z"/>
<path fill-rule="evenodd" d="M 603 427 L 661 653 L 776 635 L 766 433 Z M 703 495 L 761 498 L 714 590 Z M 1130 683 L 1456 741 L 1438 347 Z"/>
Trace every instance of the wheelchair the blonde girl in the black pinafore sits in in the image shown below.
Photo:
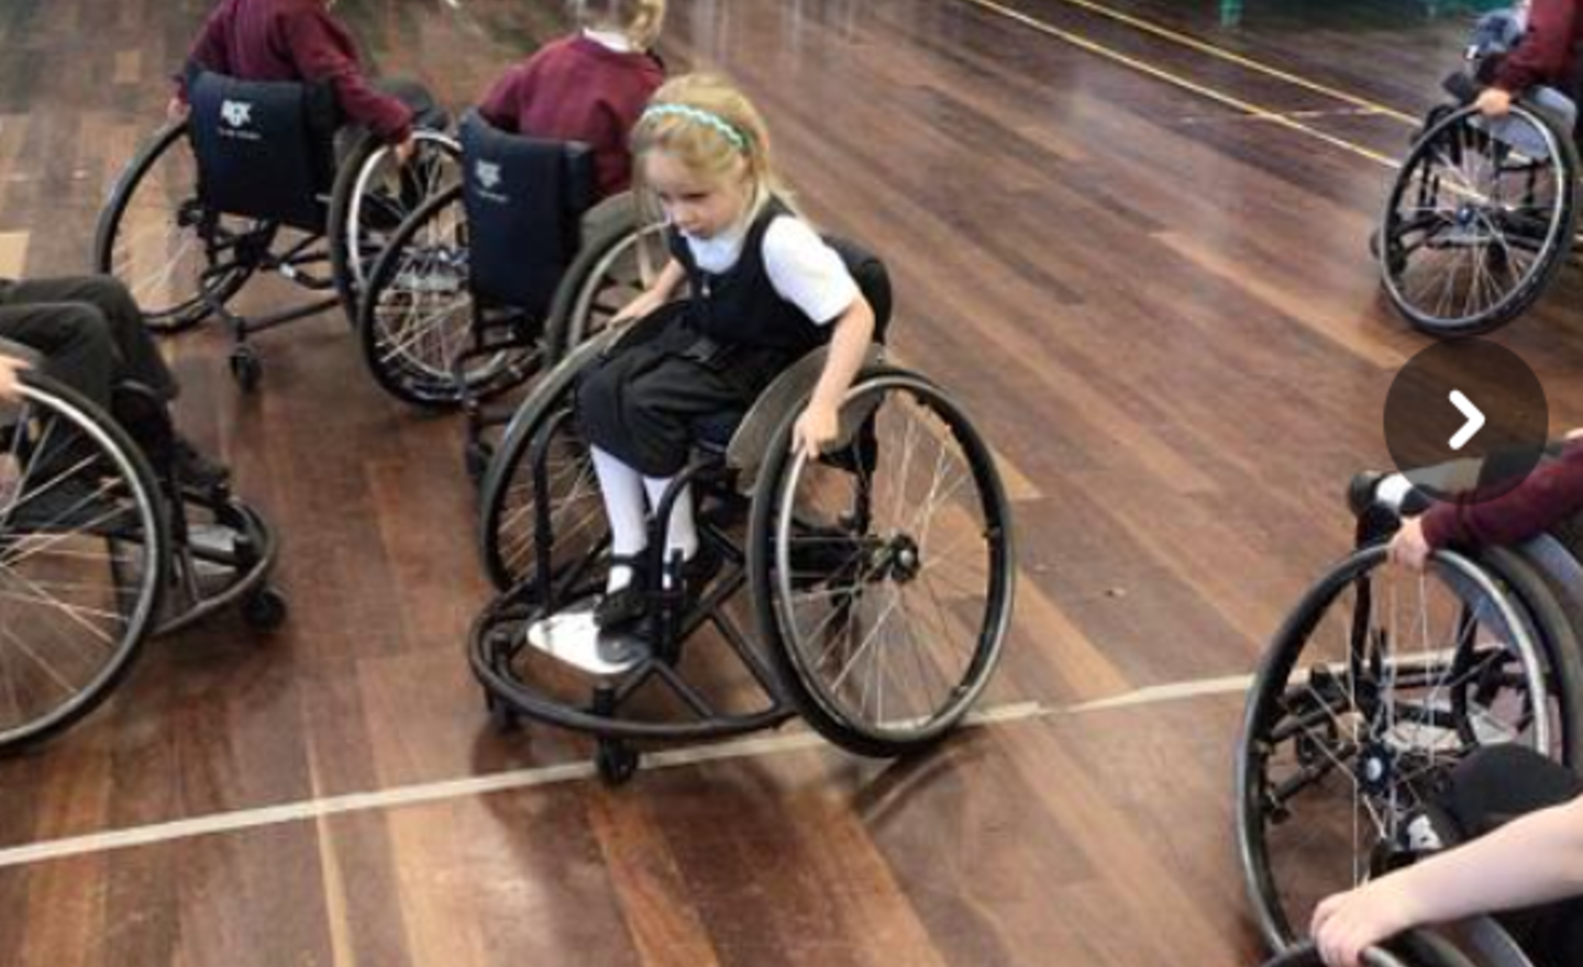
<path fill-rule="evenodd" d="M 850 247 L 844 256 L 882 339 L 885 269 Z M 481 551 L 502 593 L 476 619 L 469 654 L 491 715 L 592 734 L 609 783 L 636 769 L 633 741 L 717 739 L 793 714 L 861 755 L 939 741 L 1000 658 L 1012 513 L 962 410 L 931 380 L 888 366 L 880 342 L 847 396 L 839 446 L 818 459 L 792 453 L 790 438 L 825 350 L 747 413 L 698 426 L 692 462 L 651 518 L 643 628 L 594 625 L 609 537 L 575 392 L 602 353 L 651 337 L 663 317 L 573 347 L 535 385 L 489 465 Z M 690 590 L 682 563 L 660 551 L 684 487 L 697 500 L 700 554 L 722 562 Z M 755 636 L 733 616 L 744 587 Z"/>

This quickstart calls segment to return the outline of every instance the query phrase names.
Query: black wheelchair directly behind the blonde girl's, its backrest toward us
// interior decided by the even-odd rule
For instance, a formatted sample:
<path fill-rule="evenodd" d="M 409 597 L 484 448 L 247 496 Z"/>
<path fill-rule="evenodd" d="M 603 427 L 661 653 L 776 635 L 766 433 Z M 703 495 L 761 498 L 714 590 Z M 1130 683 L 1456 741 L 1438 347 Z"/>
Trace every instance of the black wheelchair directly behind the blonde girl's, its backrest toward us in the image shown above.
<path fill-rule="evenodd" d="M 491 423 L 481 404 L 602 331 L 665 252 L 630 195 L 592 204 L 586 146 L 508 135 L 469 112 L 461 147 L 461 184 L 391 236 L 358 331 L 389 394 L 469 413 L 469 468 L 481 476 L 480 432 Z"/>

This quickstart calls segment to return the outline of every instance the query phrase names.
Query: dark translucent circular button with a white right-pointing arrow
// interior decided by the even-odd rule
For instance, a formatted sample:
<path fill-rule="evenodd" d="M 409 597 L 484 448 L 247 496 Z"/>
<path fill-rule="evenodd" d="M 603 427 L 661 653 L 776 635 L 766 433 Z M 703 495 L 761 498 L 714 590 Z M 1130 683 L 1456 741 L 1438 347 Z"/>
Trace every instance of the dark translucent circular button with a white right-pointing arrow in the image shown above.
<path fill-rule="evenodd" d="M 1436 343 L 1396 374 L 1385 396 L 1385 445 L 1426 497 L 1490 500 L 1543 456 L 1550 408 L 1539 377 L 1483 340 Z"/>

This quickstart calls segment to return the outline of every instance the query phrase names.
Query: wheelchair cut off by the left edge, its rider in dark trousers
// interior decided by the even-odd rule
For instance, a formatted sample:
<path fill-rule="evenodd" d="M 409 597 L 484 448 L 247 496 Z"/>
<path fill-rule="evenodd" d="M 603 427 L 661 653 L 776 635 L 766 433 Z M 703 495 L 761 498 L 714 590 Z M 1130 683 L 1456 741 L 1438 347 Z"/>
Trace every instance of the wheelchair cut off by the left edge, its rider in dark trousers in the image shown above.
<path fill-rule="evenodd" d="M 103 703 L 142 643 L 239 605 L 272 630 L 275 538 L 226 492 L 184 491 L 166 470 L 163 402 L 116 388 L 112 419 L 33 362 L 0 400 L 0 752 L 65 730 Z M 131 430 L 136 430 L 136 440 Z"/>

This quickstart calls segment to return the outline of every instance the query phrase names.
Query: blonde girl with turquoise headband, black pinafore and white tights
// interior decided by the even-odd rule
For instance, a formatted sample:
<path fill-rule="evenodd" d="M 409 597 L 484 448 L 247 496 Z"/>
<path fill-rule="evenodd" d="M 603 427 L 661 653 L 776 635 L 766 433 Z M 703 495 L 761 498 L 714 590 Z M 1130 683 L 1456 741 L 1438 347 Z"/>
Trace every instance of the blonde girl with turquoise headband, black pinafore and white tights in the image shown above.
<path fill-rule="evenodd" d="M 665 313 L 657 331 L 600 361 L 578 389 L 579 426 L 611 529 L 602 628 L 636 624 L 647 506 L 681 473 L 709 418 L 746 411 L 792 362 L 829 345 L 795 446 L 817 456 L 837 438 L 837 410 L 874 336 L 874 312 L 845 263 L 803 222 L 774 176 L 754 104 L 712 76 L 668 82 L 633 130 L 640 193 L 670 225 L 671 260 L 616 323 Z M 670 304 L 687 283 L 690 296 Z M 826 339 L 828 334 L 828 339 Z M 685 584 L 714 562 L 700 551 L 689 494 L 665 527 L 663 559 Z M 670 568 L 668 568 L 670 570 Z M 660 581 L 671 581 L 666 573 Z"/>

